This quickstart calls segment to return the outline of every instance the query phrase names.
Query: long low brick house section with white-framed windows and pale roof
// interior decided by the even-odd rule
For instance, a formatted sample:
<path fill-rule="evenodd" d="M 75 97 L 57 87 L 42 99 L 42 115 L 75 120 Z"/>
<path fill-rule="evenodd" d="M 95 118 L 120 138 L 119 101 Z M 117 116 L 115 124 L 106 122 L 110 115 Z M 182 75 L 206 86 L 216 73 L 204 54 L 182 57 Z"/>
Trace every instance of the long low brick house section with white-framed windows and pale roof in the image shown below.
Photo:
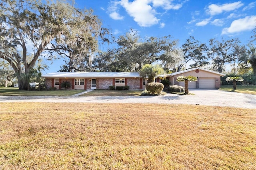
<path fill-rule="evenodd" d="M 100 89 L 110 86 L 129 86 L 130 90 L 142 90 L 142 77 L 138 72 L 58 72 L 45 74 L 46 86 L 61 89 L 63 81 L 69 81 L 70 90 Z"/>

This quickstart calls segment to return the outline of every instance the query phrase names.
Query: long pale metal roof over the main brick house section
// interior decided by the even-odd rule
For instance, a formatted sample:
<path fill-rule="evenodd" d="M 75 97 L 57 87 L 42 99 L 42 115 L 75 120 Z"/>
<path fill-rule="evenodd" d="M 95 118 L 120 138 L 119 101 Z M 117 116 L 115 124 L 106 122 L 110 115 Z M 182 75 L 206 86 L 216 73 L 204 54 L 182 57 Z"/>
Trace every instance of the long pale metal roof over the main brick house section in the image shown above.
<path fill-rule="evenodd" d="M 42 75 L 44 78 L 119 78 L 140 77 L 138 72 L 54 72 Z"/>

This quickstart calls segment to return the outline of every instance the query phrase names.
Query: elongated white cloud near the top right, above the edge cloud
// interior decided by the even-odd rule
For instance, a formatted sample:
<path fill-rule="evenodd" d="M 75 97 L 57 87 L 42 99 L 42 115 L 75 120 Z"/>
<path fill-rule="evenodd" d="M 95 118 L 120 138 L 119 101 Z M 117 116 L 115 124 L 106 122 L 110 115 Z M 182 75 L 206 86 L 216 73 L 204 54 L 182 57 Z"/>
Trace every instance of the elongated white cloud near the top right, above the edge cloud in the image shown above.
<path fill-rule="evenodd" d="M 222 12 L 236 10 L 243 5 L 244 4 L 241 1 L 229 3 L 229 4 L 222 4 L 222 5 L 211 4 L 208 6 L 207 12 L 213 16 L 213 15 L 221 14 Z"/>

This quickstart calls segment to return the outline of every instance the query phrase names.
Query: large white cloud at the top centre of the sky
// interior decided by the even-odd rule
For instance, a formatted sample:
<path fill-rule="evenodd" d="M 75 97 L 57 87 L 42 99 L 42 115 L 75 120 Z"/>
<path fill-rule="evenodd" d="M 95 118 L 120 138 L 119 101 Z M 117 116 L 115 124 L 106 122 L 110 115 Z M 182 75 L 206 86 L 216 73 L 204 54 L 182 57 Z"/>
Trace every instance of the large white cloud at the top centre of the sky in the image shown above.
<path fill-rule="evenodd" d="M 149 0 L 122 0 L 121 5 L 125 8 L 126 12 L 134 18 L 134 21 L 141 27 L 150 27 L 159 22 L 160 19 L 156 18 L 156 11 L 148 5 Z"/>

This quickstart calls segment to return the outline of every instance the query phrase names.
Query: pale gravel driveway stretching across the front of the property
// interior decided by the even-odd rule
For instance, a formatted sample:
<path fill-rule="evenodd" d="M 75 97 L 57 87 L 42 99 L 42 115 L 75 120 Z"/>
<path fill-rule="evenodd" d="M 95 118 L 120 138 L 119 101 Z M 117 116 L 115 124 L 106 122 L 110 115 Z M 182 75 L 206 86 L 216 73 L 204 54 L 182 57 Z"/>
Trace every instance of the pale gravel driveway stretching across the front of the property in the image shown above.
<path fill-rule="evenodd" d="M 77 103 L 156 103 L 199 104 L 256 109 L 256 95 L 226 92 L 216 89 L 191 89 L 195 95 L 165 96 L 0 96 L 1 102 L 77 102 Z"/>

